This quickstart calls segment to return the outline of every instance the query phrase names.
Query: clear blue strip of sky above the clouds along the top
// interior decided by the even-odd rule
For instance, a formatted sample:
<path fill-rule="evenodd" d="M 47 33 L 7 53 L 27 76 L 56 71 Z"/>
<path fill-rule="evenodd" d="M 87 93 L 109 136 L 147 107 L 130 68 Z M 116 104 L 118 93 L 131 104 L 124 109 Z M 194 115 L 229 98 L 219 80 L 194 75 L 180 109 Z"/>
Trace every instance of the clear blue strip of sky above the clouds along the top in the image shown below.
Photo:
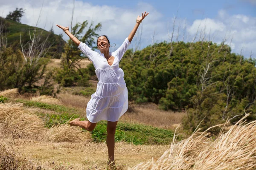
<path fill-rule="evenodd" d="M 256 16 L 256 0 L 83 0 L 93 5 L 117 6 L 136 8 L 138 2 L 149 3 L 168 19 L 179 9 L 179 17 L 187 17 L 190 21 L 201 19 L 203 16 L 215 17 L 218 10 L 227 10 L 229 14 L 245 14 Z"/>

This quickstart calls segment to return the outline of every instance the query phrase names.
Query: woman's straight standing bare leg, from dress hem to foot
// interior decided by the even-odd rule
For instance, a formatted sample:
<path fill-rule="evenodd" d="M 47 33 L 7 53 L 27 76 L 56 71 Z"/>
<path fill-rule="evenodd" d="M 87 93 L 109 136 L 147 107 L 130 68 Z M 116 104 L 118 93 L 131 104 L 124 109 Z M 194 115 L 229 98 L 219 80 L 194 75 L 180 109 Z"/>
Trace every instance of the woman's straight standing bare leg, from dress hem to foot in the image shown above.
<path fill-rule="evenodd" d="M 107 146 L 108 146 L 108 165 L 111 167 L 115 166 L 115 133 L 116 133 L 116 122 L 108 121 L 107 127 Z"/>

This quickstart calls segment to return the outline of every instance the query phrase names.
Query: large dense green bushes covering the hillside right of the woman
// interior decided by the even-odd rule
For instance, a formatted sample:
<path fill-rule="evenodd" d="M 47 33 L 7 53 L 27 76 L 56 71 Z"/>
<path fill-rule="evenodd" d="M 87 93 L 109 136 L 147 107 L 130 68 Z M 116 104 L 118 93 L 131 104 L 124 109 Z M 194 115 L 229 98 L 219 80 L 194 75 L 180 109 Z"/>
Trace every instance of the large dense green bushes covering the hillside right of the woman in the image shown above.
<path fill-rule="evenodd" d="M 237 122 L 244 111 L 256 119 L 256 59 L 231 53 L 228 45 L 161 42 L 126 52 L 120 63 L 130 100 L 186 110 L 183 126 L 191 132 L 202 120 L 203 130 Z"/>

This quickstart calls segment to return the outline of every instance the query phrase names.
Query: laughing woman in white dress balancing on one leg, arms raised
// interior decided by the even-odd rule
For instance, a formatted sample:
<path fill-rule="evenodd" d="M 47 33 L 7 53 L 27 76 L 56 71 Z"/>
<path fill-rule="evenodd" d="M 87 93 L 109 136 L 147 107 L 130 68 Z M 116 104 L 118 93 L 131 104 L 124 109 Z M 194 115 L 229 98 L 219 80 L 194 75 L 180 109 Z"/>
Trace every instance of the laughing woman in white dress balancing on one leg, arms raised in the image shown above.
<path fill-rule="evenodd" d="M 85 43 L 80 42 L 73 36 L 69 27 L 58 26 L 78 45 L 78 48 L 87 55 L 93 62 L 96 75 L 99 79 L 96 93 L 91 95 L 91 99 L 87 104 L 88 121 L 80 121 L 79 118 L 70 122 L 71 126 L 79 126 L 85 130 L 92 131 L 97 122 L 100 120 L 108 120 L 107 125 L 107 146 L 108 146 L 108 164 L 114 165 L 114 148 L 115 148 L 115 132 L 117 121 L 128 109 L 128 91 L 124 81 L 124 72 L 119 68 L 119 62 L 128 45 L 131 44 L 137 28 L 148 13 L 142 13 L 138 16 L 136 24 L 129 34 L 128 38 L 122 43 L 121 47 L 113 53 L 109 52 L 110 42 L 108 37 L 103 35 L 97 39 L 97 47 L 101 54 L 92 51 Z"/>

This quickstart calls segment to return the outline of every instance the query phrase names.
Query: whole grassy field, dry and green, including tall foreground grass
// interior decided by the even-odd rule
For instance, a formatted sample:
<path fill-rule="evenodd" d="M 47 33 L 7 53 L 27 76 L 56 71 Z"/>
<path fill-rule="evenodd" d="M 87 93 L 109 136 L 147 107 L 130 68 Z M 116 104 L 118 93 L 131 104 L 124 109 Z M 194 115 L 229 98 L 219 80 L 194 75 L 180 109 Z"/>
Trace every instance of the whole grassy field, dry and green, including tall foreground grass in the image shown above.
<path fill-rule="evenodd" d="M 86 119 L 96 86 L 62 88 L 56 98 L 0 92 L 0 170 L 101 170 L 106 166 L 106 121 L 92 132 L 71 127 Z M 256 121 L 246 116 L 212 136 L 179 126 L 186 113 L 130 103 L 116 128 L 117 170 L 255 170 Z M 175 132 L 176 127 L 177 131 Z"/>

